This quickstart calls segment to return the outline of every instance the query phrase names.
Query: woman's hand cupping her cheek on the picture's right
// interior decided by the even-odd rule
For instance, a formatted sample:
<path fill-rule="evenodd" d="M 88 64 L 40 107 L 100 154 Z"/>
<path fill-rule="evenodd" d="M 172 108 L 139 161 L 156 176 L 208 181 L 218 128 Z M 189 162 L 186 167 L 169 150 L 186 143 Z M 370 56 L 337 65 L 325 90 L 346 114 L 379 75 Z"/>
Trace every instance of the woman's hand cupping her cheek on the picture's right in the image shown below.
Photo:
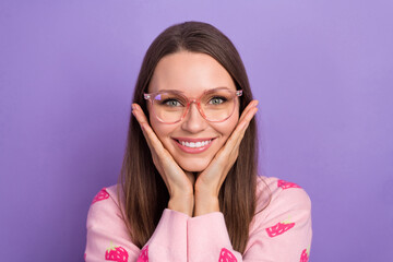
<path fill-rule="evenodd" d="M 258 100 L 252 100 L 245 108 L 238 124 L 225 145 L 217 152 L 206 169 L 198 176 L 194 186 L 194 216 L 219 212 L 219 189 L 238 157 L 241 140 L 251 119 L 258 111 L 257 105 Z"/>

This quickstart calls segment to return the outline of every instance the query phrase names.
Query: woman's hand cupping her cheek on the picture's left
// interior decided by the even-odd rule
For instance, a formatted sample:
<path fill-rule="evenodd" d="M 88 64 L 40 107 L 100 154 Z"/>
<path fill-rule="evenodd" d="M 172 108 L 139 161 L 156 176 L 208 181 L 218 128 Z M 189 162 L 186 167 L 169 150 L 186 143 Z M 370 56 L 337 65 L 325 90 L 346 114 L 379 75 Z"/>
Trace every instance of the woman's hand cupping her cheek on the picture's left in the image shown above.
<path fill-rule="evenodd" d="M 192 216 L 194 176 L 191 172 L 184 172 L 175 162 L 148 124 L 147 118 L 140 105 L 132 104 L 132 114 L 141 126 L 152 153 L 153 163 L 168 189 L 170 195 L 168 209 Z"/>

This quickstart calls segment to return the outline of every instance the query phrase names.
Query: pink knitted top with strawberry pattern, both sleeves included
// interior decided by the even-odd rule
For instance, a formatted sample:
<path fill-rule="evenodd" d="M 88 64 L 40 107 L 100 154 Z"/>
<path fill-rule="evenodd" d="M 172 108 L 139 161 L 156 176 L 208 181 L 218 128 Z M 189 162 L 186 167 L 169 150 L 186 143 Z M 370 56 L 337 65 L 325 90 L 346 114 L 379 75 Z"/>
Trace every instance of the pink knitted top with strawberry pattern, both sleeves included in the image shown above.
<path fill-rule="evenodd" d="M 189 217 L 168 209 L 140 250 L 128 235 L 116 186 L 111 186 L 104 188 L 90 207 L 85 261 L 307 262 L 312 237 L 310 198 L 296 183 L 262 178 L 272 200 L 254 215 L 243 254 L 233 249 L 223 213 Z M 263 188 L 264 183 L 259 181 L 257 211 L 266 200 L 262 196 Z"/>

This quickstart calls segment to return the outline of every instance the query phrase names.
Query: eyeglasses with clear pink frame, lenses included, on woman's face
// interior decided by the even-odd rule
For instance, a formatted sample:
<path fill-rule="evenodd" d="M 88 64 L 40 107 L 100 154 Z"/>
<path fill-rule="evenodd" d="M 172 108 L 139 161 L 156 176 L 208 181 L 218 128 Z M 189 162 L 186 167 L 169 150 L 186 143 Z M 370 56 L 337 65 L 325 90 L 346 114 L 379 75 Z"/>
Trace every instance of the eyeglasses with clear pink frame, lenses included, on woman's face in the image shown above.
<path fill-rule="evenodd" d="M 238 104 L 237 97 L 241 95 L 241 90 L 219 87 L 204 92 L 196 99 L 190 99 L 178 91 L 144 94 L 144 98 L 150 100 L 154 115 L 163 123 L 181 121 L 192 103 L 195 103 L 199 112 L 207 121 L 223 122 L 233 115 Z"/>

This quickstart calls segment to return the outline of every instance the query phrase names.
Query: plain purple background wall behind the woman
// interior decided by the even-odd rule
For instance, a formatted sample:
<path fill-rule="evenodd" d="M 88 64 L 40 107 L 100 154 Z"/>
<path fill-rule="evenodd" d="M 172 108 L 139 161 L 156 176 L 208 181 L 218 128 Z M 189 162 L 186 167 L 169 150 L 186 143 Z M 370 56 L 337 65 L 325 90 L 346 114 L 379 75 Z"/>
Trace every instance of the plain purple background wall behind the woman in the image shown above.
<path fill-rule="evenodd" d="M 82 261 L 116 183 L 131 94 L 167 26 L 212 23 L 255 97 L 261 171 L 312 200 L 311 259 L 393 257 L 393 2 L 0 2 L 0 258 Z"/>

